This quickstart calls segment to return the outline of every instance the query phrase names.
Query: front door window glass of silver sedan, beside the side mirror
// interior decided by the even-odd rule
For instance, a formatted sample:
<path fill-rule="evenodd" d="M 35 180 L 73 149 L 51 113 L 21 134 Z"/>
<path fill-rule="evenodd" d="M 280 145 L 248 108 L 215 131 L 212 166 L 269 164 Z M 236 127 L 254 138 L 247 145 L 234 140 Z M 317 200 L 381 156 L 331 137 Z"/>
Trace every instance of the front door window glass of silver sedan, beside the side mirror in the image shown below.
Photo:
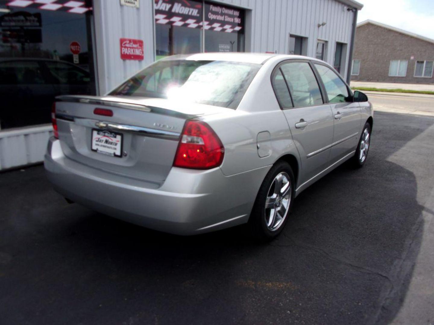
<path fill-rule="evenodd" d="M 316 64 L 330 103 L 342 103 L 348 98 L 348 89 L 341 78 L 325 65 Z"/>

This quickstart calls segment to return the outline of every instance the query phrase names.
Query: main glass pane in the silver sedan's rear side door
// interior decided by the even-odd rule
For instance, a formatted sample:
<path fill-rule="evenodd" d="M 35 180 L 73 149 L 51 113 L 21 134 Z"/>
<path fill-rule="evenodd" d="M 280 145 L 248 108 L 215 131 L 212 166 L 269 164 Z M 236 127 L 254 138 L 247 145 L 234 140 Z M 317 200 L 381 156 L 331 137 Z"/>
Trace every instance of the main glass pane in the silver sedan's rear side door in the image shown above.
<path fill-rule="evenodd" d="M 283 75 L 293 96 L 294 107 L 322 104 L 321 91 L 307 62 L 289 62 L 281 65 Z"/>

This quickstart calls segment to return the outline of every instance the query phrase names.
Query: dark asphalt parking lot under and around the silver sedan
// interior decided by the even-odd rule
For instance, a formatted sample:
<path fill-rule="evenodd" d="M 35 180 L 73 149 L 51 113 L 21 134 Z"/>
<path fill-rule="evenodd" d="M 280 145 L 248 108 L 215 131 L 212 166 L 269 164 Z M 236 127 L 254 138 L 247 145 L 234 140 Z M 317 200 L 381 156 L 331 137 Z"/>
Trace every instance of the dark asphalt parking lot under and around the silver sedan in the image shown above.
<path fill-rule="evenodd" d="M 432 268 L 418 269 L 433 259 L 433 125 L 376 112 L 364 168 L 299 195 L 265 245 L 242 227 L 178 237 L 69 205 L 42 166 L 2 173 L 0 323 L 434 323 Z"/>

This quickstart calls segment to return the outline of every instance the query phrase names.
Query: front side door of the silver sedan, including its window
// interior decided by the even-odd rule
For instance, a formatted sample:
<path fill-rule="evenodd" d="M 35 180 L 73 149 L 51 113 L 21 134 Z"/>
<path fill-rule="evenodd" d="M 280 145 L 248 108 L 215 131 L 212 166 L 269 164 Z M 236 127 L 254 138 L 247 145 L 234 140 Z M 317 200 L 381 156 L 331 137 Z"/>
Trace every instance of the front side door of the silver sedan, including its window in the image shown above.
<path fill-rule="evenodd" d="M 357 147 L 362 127 L 360 105 L 352 101 L 350 90 L 335 71 L 319 63 L 315 63 L 314 66 L 333 111 L 335 132 L 330 161 L 334 163 L 352 153 Z"/>

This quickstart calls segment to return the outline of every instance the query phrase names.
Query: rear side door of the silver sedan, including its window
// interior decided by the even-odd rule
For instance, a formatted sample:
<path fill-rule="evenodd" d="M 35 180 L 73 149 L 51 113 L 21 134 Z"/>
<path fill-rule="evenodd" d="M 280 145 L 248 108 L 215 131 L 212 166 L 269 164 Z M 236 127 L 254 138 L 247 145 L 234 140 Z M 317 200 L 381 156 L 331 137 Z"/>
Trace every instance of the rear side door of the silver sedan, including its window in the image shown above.
<path fill-rule="evenodd" d="M 279 78 L 289 88 L 291 96 L 283 105 L 291 107 L 282 108 L 300 155 L 300 186 L 329 166 L 333 115 L 330 105 L 323 101 L 309 62 L 284 62 L 274 71 L 275 89 Z M 279 101 L 282 102 L 281 99 Z"/>

